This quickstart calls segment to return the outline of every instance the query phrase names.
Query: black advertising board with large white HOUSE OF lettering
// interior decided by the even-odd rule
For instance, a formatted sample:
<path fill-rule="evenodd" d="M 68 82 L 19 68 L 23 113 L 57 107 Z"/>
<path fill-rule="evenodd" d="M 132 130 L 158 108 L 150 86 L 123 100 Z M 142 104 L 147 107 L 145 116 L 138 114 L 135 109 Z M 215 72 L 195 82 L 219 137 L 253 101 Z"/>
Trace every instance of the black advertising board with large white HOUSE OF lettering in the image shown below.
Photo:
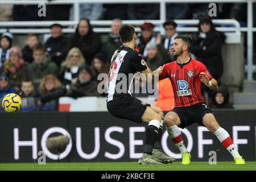
<path fill-rule="evenodd" d="M 246 161 L 256 159 L 256 111 L 215 110 Z M 45 154 L 47 162 L 128 162 L 143 152 L 144 124 L 112 117 L 107 112 L 16 113 L 1 114 L 0 163 L 36 163 Z M 48 137 L 67 135 L 70 142 L 60 155 L 46 147 Z M 218 161 L 232 161 L 207 129 L 197 124 L 182 130 L 192 161 L 208 161 L 216 154 Z M 180 159 L 177 147 L 164 130 L 162 148 L 167 155 Z M 43 153 L 42 153 L 43 150 Z"/>

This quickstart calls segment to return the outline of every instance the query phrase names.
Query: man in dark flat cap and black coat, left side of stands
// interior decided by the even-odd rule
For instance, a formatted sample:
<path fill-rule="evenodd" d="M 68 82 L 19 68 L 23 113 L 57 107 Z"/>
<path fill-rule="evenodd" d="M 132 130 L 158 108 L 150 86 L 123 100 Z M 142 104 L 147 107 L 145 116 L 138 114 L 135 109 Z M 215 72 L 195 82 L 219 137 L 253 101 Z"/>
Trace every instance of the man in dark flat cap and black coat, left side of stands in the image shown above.
<path fill-rule="evenodd" d="M 46 48 L 47 55 L 51 56 L 51 60 L 60 66 L 61 61 L 67 55 L 68 38 L 62 33 L 61 24 L 54 23 L 50 26 L 51 37 L 47 39 L 44 47 Z"/>

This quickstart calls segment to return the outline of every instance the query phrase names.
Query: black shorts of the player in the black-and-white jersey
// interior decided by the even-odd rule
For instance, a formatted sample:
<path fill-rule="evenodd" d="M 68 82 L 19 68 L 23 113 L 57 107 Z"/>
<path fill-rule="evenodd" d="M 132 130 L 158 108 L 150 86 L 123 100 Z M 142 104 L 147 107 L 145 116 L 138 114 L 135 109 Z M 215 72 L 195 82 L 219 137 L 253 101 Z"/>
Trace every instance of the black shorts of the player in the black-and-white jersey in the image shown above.
<path fill-rule="evenodd" d="M 129 119 L 137 123 L 142 123 L 142 115 L 147 106 L 150 104 L 138 100 L 130 94 L 114 96 L 112 101 L 107 102 L 108 111 L 114 117 Z"/>

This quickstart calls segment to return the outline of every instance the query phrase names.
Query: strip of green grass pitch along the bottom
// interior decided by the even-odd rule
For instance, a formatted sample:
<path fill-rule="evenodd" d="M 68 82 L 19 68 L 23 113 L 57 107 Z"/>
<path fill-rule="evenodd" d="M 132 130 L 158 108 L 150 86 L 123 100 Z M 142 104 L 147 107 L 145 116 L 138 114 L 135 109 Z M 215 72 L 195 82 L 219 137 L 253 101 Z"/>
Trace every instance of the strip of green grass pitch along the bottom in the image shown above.
<path fill-rule="evenodd" d="M 0 170 L 7 171 L 256 171 L 256 162 L 246 162 L 235 165 L 234 162 L 191 162 L 181 165 L 181 162 L 162 165 L 139 165 L 137 162 L 109 162 L 109 163 L 0 163 Z"/>

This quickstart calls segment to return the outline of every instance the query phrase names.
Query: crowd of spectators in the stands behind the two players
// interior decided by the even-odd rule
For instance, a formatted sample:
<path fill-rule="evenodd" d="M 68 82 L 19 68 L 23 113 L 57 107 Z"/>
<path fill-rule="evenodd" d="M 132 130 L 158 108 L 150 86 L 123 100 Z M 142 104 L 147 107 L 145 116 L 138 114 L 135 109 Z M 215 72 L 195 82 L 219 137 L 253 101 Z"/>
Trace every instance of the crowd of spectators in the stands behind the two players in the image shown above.
<path fill-rule="evenodd" d="M 234 12 L 238 13 L 240 8 L 236 4 L 222 5 L 222 18 L 233 18 Z M 6 5 L 7 6 L 7 5 Z M 9 5 L 8 5 L 9 6 Z M 116 7 L 118 6 L 118 7 Z M 200 19 L 199 32 L 193 34 L 193 45 L 191 56 L 203 61 L 210 74 L 220 81 L 222 74 L 221 46 L 224 44 L 225 35 L 215 30 L 209 16 L 203 16 L 205 7 L 203 4 L 197 8 L 190 9 L 187 4 L 168 5 L 167 18 L 169 19 Z M 46 20 L 69 20 L 72 7 L 62 5 L 61 8 L 49 9 Z M 29 9 L 29 10 L 28 10 Z M 30 13 L 34 6 L 14 5 L 6 11 L 6 16 L 1 16 L 2 20 L 40 20 L 31 19 Z M 60 13 L 64 10 L 71 11 L 70 15 Z M 90 11 L 85 11 L 90 9 Z M 139 11 L 138 11 L 139 9 Z M 8 7 L 6 7 L 8 10 Z M 37 10 L 37 6 L 36 6 Z M 97 91 L 97 76 L 100 73 L 109 72 L 111 57 L 114 51 L 121 46 L 118 30 L 122 26 L 121 19 L 158 19 L 159 7 L 137 5 L 81 5 L 79 24 L 74 34 L 64 35 L 61 24 L 52 24 L 49 29 L 51 36 L 46 42 L 40 42 L 38 35 L 28 34 L 27 44 L 24 47 L 13 45 L 14 36 L 10 32 L 5 32 L 0 40 L 0 98 L 7 93 L 18 93 L 23 98 L 21 111 L 34 110 L 57 110 L 59 97 L 84 97 L 103 96 Z M 101 11 L 99 11 L 101 10 Z M 114 11 L 120 11 L 120 14 Z M 127 11 L 129 10 L 129 14 Z M 154 10 L 154 13 L 151 11 Z M 179 10 L 179 11 L 178 11 Z M 182 10 L 182 11 L 181 11 Z M 193 10 L 193 12 L 190 12 Z M 177 11 L 179 13 L 168 13 Z M 89 13 L 88 13 L 89 12 Z M 133 12 L 133 13 L 132 13 Z M 150 12 L 150 13 L 148 13 Z M 225 14 L 223 14 L 225 12 Z M 145 16 L 151 14 L 151 16 Z M 57 16 L 58 15 L 58 16 Z M 117 17 L 117 15 L 119 15 Z M 172 15 L 172 16 L 171 16 Z M 174 16 L 175 15 L 175 16 Z M 9 17 L 11 16 L 11 17 Z M 60 17 L 61 16 L 61 17 Z M 3 19 L 6 17 L 6 19 Z M 8 19 L 9 17 L 9 19 Z M 235 17 L 236 18 L 236 17 Z M 243 16 L 237 16 L 243 18 Z M 90 20 L 113 19 L 111 32 L 106 40 L 102 40 L 101 35 L 93 31 Z M 238 19 L 240 20 L 240 19 Z M 246 20 L 240 21 L 241 25 Z M 155 25 L 145 22 L 141 25 L 141 32 L 138 34 L 137 51 L 140 52 L 151 70 L 155 70 L 160 65 L 174 61 L 171 53 L 171 46 L 174 38 L 179 34 L 176 31 L 177 24 L 168 20 L 163 24 L 166 31 L 164 36 L 154 32 Z M 209 89 L 205 89 L 209 92 Z M 228 93 L 209 92 L 212 103 L 217 108 L 232 107 L 227 105 Z M 225 106 L 222 105 L 217 96 L 226 97 Z"/>

